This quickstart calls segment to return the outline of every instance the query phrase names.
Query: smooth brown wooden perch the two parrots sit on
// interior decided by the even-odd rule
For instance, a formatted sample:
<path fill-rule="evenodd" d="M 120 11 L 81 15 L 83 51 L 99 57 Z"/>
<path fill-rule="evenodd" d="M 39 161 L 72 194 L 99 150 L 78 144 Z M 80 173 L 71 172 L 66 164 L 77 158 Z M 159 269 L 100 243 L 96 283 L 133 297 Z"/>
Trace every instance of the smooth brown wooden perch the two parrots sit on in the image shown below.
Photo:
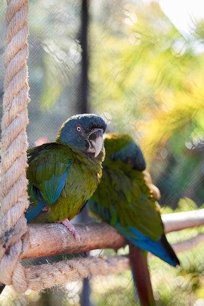
<path fill-rule="evenodd" d="M 177 231 L 204 224 L 204 209 L 163 215 L 165 232 Z M 28 224 L 23 236 L 20 258 L 33 258 L 58 254 L 71 254 L 93 249 L 113 248 L 126 244 L 118 231 L 106 223 L 76 224 L 80 241 L 75 240 L 65 226 L 58 223 Z"/>

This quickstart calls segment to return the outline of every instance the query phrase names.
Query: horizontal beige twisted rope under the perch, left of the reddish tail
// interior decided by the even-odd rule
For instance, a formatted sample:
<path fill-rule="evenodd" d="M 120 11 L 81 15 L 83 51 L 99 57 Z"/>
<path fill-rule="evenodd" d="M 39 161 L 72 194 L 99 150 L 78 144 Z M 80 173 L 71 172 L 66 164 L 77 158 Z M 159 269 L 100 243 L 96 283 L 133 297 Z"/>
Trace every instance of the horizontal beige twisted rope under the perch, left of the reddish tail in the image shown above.
<path fill-rule="evenodd" d="M 67 281 L 78 281 L 83 277 L 122 272 L 129 269 L 129 259 L 122 256 L 111 258 L 88 256 L 41 266 L 41 273 L 39 266 L 28 266 L 26 269 L 28 287 L 34 291 L 63 285 Z"/>

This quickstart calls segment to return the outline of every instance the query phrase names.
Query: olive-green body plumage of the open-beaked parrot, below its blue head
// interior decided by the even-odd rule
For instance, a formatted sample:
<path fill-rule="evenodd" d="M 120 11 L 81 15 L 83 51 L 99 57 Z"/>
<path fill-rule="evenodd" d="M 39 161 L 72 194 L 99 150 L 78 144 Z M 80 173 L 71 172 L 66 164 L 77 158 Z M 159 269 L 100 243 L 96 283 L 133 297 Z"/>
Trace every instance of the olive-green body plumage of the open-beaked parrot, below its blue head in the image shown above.
<path fill-rule="evenodd" d="M 44 149 L 43 149 L 44 147 Z M 96 159 L 83 162 L 83 153 L 74 153 L 64 145 L 50 143 L 42 145 L 38 156 L 32 158 L 35 148 L 28 151 L 31 156 L 27 178 L 29 180 L 28 193 L 31 186 L 41 191 L 43 202 L 49 206 L 49 213 L 41 212 L 32 219 L 32 223 L 57 222 L 58 220 L 73 219 L 81 210 L 83 203 L 92 196 L 102 176 L 101 161 L 103 153 Z M 33 171 L 35 169 L 36 171 Z M 60 183 L 61 175 L 68 169 L 64 186 L 60 196 L 53 205 L 56 190 Z M 50 179 L 54 177 L 52 182 Z M 49 192 L 48 192 L 49 191 Z M 31 203 L 37 206 L 35 197 Z"/>

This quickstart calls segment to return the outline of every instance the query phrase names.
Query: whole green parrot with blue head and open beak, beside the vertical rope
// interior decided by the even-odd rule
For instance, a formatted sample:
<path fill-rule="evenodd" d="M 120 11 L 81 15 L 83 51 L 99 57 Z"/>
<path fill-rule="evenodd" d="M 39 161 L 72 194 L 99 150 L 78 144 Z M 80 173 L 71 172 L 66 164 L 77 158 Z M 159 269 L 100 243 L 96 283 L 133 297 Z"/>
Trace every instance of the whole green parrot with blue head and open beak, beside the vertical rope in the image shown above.
<path fill-rule="evenodd" d="M 28 150 L 27 222 L 62 223 L 79 239 L 69 220 L 82 210 L 101 179 L 105 129 L 95 114 L 75 115 L 63 123 L 55 142 Z"/>

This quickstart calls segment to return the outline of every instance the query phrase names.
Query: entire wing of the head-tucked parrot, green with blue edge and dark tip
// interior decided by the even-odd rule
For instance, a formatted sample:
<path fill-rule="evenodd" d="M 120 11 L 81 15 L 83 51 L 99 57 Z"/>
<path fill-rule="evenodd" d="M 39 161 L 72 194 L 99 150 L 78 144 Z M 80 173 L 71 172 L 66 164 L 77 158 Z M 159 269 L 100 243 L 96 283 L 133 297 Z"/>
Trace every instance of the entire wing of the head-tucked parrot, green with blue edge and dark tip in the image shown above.
<path fill-rule="evenodd" d="M 171 246 L 163 239 L 159 204 L 142 172 L 119 160 L 103 165 L 102 180 L 89 200 L 89 207 L 138 247 L 172 265 L 178 264 Z"/>

